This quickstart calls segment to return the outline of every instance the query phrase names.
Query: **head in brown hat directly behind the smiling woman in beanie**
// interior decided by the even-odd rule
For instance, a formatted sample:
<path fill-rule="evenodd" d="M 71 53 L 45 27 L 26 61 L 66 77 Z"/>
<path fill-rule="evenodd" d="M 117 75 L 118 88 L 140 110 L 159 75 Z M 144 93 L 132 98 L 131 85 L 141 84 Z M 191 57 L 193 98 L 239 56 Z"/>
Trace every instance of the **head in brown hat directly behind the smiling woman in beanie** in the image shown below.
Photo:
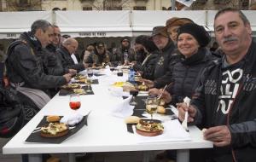
<path fill-rule="evenodd" d="M 177 29 L 188 23 L 194 23 L 188 18 L 172 17 L 166 20 L 166 31 L 174 43 L 177 43 Z"/>

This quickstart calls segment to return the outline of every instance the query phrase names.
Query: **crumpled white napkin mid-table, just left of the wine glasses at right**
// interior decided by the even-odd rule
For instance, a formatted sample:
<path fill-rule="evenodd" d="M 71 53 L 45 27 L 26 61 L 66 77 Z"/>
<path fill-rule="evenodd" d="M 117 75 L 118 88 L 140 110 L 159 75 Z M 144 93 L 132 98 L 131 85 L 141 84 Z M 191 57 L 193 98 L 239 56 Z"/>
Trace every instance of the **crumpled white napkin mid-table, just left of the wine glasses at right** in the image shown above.
<path fill-rule="evenodd" d="M 119 103 L 114 105 L 110 110 L 111 115 L 119 118 L 126 118 L 131 116 L 134 108 L 134 106 L 130 105 L 131 97 L 132 96 L 126 98 L 123 101 L 119 101 Z"/>

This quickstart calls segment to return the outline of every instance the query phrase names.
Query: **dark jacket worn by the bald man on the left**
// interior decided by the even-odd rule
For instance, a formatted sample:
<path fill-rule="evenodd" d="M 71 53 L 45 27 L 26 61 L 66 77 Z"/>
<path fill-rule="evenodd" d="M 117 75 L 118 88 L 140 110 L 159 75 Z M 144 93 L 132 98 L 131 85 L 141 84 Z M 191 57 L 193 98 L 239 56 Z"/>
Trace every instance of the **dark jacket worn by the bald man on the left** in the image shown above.
<path fill-rule="evenodd" d="M 71 55 L 69 54 L 68 50 L 61 46 L 59 49 L 56 49 L 56 55 L 58 59 L 61 61 L 61 65 L 64 69 L 75 69 L 78 72 L 84 70 L 84 64 L 83 63 L 78 63 L 75 64 Z"/>

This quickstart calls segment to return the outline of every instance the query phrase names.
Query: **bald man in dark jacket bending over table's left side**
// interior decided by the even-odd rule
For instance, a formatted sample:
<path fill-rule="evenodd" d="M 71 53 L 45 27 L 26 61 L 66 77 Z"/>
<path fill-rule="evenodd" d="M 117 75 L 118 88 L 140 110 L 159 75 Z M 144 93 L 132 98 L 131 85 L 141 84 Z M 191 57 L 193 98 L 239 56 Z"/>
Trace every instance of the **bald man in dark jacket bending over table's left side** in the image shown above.
<path fill-rule="evenodd" d="M 75 69 L 78 72 L 83 71 L 87 64 L 78 63 L 73 61 L 72 55 L 78 49 L 79 43 L 75 38 L 67 38 L 59 49 L 56 50 L 56 54 L 61 61 L 61 65 L 65 69 Z"/>

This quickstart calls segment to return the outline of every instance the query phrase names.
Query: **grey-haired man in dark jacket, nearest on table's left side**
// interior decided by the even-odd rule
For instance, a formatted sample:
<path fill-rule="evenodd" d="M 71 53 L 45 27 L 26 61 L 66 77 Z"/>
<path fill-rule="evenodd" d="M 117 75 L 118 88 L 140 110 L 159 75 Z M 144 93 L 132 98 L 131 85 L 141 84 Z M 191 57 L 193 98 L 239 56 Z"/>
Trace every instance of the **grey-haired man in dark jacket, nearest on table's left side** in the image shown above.
<path fill-rule="evenodd" d="M 32 23 L 31 32 L 23 32 L 20 39 L 11 43 L 6 60 L 7 76 L 13 88 L 31 99 L 38 108 L 50 100 L 47 95 L 50 88 L 67 84 L 70 74 L 63 76 L 48 75 L 40 55 L 51 43 L 53 27 L 47 20 Z"/>

